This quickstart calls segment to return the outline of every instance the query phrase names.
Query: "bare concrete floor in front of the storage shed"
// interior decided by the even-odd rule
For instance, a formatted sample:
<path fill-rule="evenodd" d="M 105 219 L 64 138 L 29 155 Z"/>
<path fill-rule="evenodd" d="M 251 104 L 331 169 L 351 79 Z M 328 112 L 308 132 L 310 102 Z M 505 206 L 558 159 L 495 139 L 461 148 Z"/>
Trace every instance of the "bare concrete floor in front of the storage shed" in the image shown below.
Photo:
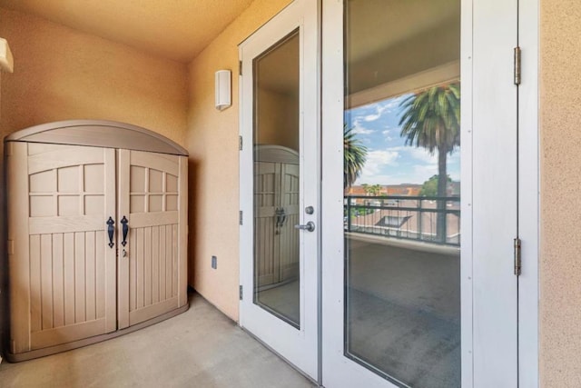
<path fill-rule="evenodd" d="M 103 343 L 0 363 L 0 387 L 314 387 L 199 294 L 190 310 Z"/>

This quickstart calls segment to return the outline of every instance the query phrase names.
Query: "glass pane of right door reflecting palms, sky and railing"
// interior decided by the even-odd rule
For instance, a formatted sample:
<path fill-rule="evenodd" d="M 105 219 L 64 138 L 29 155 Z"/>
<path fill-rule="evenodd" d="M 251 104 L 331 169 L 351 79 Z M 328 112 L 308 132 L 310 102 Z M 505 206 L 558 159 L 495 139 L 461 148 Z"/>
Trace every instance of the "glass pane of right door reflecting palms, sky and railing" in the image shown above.
<path fill-rule="evenodd" d="M 345 2 L 347 357 L 460 386 L 459 1 Z"/>

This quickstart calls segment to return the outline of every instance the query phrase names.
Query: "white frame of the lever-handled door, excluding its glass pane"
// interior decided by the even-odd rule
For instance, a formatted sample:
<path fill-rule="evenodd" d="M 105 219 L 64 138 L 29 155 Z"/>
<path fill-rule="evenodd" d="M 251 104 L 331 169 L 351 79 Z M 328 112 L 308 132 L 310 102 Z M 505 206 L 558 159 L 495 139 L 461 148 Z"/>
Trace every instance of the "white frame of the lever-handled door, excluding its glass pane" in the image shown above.
<path fill-rule="evenodd" d="M 312 233 L 300 232 L 300 329 L 253 303 L 253 75 L 252 59 L 300 28 L 300 224 L 313 221 Z M 320 379 L 320 2 L 295 0 L 239 45 L 240 135 L 240 318 L 252 333 L 312 380 Z M 313 68 L 310 64 L 316 64 Z M 313 93 L 305 93 L 305 87 Z M 305 119 L 307 118 L 307 119 Z M 308 126 L 307 126 L 308 125 Z M 305 145 L 312 152 L 304 153 Z M 305 167 L 309 166 L 309 167 Z M 307 174 L 309 184 L 305 184 Z M 306 199 L 305 199 L 306 198 Z M 305 258 L 305 247 L 315 257 Z M 308 301 L 308 302 L 307 302 Z M 307 303 L 304 303 L 307 302 Z"/>

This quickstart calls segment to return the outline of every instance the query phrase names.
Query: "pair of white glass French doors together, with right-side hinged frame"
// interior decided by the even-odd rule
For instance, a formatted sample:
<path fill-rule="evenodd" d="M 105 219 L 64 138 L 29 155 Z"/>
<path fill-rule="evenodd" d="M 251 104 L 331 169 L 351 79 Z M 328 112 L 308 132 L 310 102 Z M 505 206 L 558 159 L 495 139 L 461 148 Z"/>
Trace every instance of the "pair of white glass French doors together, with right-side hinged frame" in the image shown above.
<path fill-rule="evenodd" d="M 536 23 L 302 0 L 241 44 L 242 327 L 328 388 L 537 386 Z"/>

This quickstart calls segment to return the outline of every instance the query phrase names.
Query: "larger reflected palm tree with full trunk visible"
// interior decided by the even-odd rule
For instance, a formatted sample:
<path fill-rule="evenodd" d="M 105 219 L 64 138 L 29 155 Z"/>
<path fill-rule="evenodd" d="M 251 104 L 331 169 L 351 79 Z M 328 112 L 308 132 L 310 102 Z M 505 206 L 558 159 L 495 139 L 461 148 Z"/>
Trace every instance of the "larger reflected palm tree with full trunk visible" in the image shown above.
<path fill-rule="evenodd" d="M 399 125 L 406 145 L 438 151 L 438 197 L 446 196 L 446 160 L 460 145 L 460 85 L 438 85 L 410 95 L 400 104 L 404 108 Z M 446 241 L 446 201 L 438 201 L 437 237 Z"/>

